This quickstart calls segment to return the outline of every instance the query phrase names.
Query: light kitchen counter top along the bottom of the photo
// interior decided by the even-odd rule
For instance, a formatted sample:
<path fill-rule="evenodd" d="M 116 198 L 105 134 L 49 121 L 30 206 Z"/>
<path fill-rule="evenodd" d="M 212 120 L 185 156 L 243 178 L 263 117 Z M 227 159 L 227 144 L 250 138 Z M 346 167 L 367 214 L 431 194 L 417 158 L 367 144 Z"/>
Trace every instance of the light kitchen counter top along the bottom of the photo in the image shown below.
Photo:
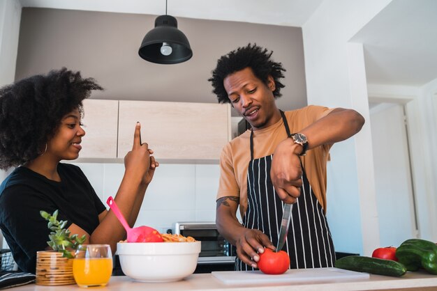
<path fill-rule="evenodd" d="M 401 278 L 390 276 L 370 275 L 369 279 L 330 281 L 318 283 L 269 283 L 262 285 L 225 285 L 212 274 L 193 274 L 182 281 L 170 283 L 142 283 L 135 282 L 126 276 L 112 276 L 110 283 L 105 288 L 88 288 L 88 290 L 117 290 L 117 291 L 142 291 L 142 290 L 204 290 L 204 291 L 228 291 L 228 290 L 437 290 L 437 276 L 425 272 L 408 272 Z M 77 285 L 43 286 L 36 284 L 23 285 L 10 289 L 11 291 L 61 291 L 61 290 L 85 290 Z"/>

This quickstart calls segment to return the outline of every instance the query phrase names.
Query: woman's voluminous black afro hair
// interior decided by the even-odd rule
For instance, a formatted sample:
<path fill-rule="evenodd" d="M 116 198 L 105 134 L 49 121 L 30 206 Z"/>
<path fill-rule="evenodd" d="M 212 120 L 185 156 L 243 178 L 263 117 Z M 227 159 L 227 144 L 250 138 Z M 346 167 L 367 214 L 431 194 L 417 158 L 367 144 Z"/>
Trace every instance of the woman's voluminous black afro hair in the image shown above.
<path fill-rule="evenodd" d="M 54 136 L 61 119 L 91 90 L 103 90 L 94 79 L 66 68 L 38 74 L 0 88 L 0 168 L 35 159 Z"/>

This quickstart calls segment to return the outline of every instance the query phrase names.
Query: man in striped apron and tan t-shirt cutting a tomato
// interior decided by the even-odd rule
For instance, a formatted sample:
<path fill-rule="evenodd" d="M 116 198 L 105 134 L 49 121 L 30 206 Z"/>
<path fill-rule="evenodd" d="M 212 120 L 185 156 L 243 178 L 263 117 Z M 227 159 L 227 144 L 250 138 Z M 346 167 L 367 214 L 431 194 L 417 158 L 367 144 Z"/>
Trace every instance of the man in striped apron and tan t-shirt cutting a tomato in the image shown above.
<path fill-rule="evenodd" d="M 237 247 L 236 269 L 254 269 L 258 253 L 275 249 L 284 203 L 295 203 L 283 246 L 290 268 L 333 267 L 325 219 L 329 149 L 359 132 L 364 118 L 318 106 L 280 111 L 275 98 L 285 69 L 271 56 L 257 45 L 239 47 L 218 59 L 209 79 L 218 102 L 230 102 L 251 125 L 221 153 L 217 228 Z"/>

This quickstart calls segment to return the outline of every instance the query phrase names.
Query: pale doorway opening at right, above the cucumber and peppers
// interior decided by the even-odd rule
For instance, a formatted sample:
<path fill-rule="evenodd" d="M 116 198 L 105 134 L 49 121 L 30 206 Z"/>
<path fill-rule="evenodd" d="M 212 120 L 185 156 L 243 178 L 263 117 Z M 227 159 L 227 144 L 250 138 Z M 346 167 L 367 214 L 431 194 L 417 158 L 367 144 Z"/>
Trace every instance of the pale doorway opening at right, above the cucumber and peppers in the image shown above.
<path fill-rule="evenodd" d="M 380 246 L 417 237 L 405 104 L 370 104 Z"/>

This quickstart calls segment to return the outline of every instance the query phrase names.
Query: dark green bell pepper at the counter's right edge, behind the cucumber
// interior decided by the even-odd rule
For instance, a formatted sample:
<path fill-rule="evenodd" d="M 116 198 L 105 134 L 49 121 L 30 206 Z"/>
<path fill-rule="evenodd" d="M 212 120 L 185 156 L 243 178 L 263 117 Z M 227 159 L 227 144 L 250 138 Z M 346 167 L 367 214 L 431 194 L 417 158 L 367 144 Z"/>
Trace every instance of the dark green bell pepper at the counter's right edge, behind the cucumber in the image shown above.
<path fill-rule="evenodd" d="M 437 275 L 437 245 L 424 239 L 407 239 L 396 250 L 396 256 L 408 271 L 423 267 Z"/>

